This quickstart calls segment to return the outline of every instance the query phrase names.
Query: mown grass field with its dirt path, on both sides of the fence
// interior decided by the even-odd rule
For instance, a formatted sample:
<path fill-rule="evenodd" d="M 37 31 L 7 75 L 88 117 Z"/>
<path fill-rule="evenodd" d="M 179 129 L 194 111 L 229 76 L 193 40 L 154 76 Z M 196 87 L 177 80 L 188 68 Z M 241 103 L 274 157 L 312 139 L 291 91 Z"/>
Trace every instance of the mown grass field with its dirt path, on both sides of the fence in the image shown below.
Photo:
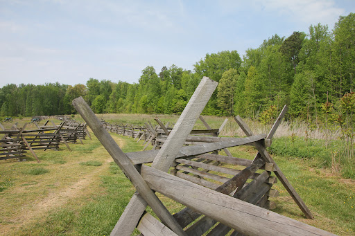
<path fill-rule="evenodd" d="M 223 122 L 206 120 L 212 128 Z M 132 138 L 112 136 L 124 152 L 143 148 Z M 41 163 L 29 153 L 26 161 L 0 161 L 0 235 L 110 235 L 135 189 L 94 136 L 84 143 L 71 144 L 73 152 L 62 146 L 60 151 L 39 150 Z M 243 158 L 256 154 L 252 147 L 234 147 L 231 152 Z M 312 158 L 287 156 L 274 158 L 315 219 L 304 218 L 281 183 L 274 185 L 280 192 L 272 199 L 274 211 L 337 235 L 355 235 L 355 182 L 316 165 Z M 159 197 L 172 212 L 182 208 Z"/>

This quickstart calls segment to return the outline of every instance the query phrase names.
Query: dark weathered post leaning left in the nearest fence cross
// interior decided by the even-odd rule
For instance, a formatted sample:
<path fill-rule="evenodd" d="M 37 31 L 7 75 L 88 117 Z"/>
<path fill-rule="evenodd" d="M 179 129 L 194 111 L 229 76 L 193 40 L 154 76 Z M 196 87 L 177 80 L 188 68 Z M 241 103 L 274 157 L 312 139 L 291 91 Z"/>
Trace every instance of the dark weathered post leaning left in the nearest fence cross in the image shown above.
<path fill-rule="evenodd" d="M 182 228 L 178 225 L 170 212 L 168 212 L 168 210 L 164 207 L 163 203 L 157 198 L 155 193 L 150 190 L 135 166 L 132 165 L 129 158 L 124 154 L 124 152 L 122 152 L 119 145 L 117 145 L 110 134 L 108 134 L 100 120 L 98 120 L 85 100 L 82 97 L 74 99 L 73 107 L 75 107 L 76 111 L 78 111 L 78 113 L 83 117 L 85 122 L 87 122 L 95 136 L 98 140 L 100 140 L 107 152 L 112 156 L 114 162 L 116 162 L 126 176 L 128 176 L 136 190 L 140 193 L 141 197 L 149 204 L 159 219 L 161 219 L 166 226 L 171 228 L 171 230 L 178 235 L 185 235 L 184 230 L 182 230 Z M 129 234 L 131 234 L 132 231 Z"/>

